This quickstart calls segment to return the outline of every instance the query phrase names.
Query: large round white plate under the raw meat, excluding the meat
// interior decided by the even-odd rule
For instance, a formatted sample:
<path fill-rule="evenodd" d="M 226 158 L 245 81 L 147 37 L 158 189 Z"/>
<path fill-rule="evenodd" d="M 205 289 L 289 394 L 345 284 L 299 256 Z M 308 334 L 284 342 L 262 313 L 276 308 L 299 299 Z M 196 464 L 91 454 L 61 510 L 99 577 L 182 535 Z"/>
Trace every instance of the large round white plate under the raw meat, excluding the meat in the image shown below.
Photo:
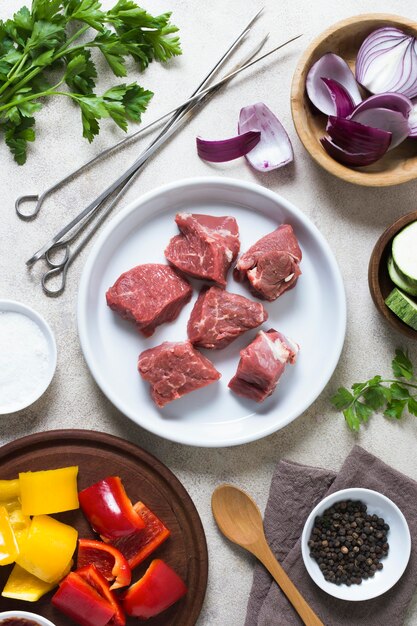
<path fill-rule="evenodd" d="M 245 333 L 225 350 L 204 350 L 222 373 L 218 383 L 158 409 L 148 383 L 137 372 L 140 352 L 162 341 L 186 339 L 197 297 L 177 320 L 159 326 L 145 339 L 133 324 L 111 311 L 107 289 L 119 275 L 141 263 L 164 263 L 164 248 L 178 233 L 178 211 L 232 215 L 240 229 L 241 250 L 287 222 L 294 228 L 303 260 L 297 286 L 266 303 L 271 327 L 300 344 L 296 365 L 287 367 L 276 392 L 262 404 L 234 395 L 227 387 L 239 350 L 256 336 Z M 230 272 L 227 289 L 250 296 Z M 201 282 L 194 281 L 195 286 Z M 230 446 L 265 437 L 301 415 L 332 375 L 346 330 L 346 301 L 333 254 L 317 228 L 296 207 L 252 183 L 199 178 L 160 187 L 122 211 L 97 240 L 81 278 L 78 330 L 85 359 L 97 384 L 113 404 L 147 430 L 195 446 Z"/>

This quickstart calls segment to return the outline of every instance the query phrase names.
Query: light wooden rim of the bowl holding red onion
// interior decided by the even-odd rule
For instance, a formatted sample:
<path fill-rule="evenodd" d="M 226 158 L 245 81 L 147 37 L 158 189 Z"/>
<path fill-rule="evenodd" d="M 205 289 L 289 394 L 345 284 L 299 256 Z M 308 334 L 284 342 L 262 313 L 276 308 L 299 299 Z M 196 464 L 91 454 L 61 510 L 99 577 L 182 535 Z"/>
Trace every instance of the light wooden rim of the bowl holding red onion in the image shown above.
<path fill-rule="evenodd" d="M 415 31 L 417 36 L 416 21 L 391 13 L 363 13 L 361 15 L 340 20 L 332 26 L 329 26 L 325 31 L 313 39 L 298 61 L 291 84 L 291 114 L 295 130 L 297 131 L 297 135 L 301 143 L 304 145 L 305 149 L 314 161 L 316 161 L 318 165 L 323 167 L 330 174 L 355 185 L 362 185 L 365 187 L 389 187 L 392 185 L 406 183 L 417 178 L 417 163 L 415 170 L 401 170 L 400 172 L 397 172 L 397 170 L 393 170 L 391 172 L 362 172 L 342 165 L 330 157 L 324 150 L 317 150 L 317 139 L 312 137 L 311 133 L 305 128 L 305 114 L 304 112 L 299 112 L 295 106 L 296 102 L 301 103 L 307 97 L 305 94 L 305 81 L 301 80 L 301 76 L 306 65 L 310 64 L 311 57 L 314 55 L 316 48 L 335 32 L 342 30 L 347 26 L 351 26 L 352 24 L 358 22 L 371 23 L 375 21 L 392 22 L 396 26 L 403 26 Z"/>

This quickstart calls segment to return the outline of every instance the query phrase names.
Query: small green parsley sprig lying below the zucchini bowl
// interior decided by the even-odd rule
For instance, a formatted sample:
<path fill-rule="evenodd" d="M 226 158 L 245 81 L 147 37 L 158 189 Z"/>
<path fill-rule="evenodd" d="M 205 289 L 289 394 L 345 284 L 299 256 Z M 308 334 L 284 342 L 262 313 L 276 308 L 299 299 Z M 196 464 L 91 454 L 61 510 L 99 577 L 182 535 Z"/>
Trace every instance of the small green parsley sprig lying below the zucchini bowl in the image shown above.
<path fill-rule="evenodd" d="M 343 412 L 351 430 L 357 432 L 361 424 L 382 409 L 385 417 L 397 420 L 405 408 L 417 416 L 417 378 L 408 353 L 395 351 L 392 372 L 393 379 L 374 376 L 364 383 L 354 383 L 351 390 L 339 387 L 332 396 L 333 406 Z"/>

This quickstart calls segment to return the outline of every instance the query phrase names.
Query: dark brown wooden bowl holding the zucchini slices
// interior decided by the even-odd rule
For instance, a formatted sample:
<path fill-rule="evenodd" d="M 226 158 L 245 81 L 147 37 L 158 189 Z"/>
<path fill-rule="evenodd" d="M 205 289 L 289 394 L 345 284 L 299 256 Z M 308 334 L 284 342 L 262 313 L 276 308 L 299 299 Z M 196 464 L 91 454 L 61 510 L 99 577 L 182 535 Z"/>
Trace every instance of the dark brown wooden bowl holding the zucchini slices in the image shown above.
<path fill-rule="evenodd" d="M 395 330 L 411 339 L 417 339 L 417 331 L 407 326 L 385 304 L 385 298 L 391 293 L 396 285 L 388 274 L 388 257 L 391 252 L 391 244 L 395 235 L 411 222 L 417 220 L 417 211 L 403 215 L 380 236 L 372 251 L 368 268 L 368 283 L 372 300 L 381 315 Z"/>

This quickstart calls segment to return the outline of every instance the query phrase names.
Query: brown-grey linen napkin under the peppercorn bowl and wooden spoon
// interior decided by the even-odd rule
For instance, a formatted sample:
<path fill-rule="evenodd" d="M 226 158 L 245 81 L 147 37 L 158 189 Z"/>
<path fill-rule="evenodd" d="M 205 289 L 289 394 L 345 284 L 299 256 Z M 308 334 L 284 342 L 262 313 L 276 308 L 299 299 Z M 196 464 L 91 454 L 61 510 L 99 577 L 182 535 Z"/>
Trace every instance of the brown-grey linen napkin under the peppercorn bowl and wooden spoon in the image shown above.
<path fill-rule="evenodd" d="M 300 537 L 311 509 L 326 495 L 348 487 L 383 493 L 404 513 L 411 533 L 406 571 L 390 591 L 365 602 L 338 600 L 312 581 Z M 264 518 L 272 551 L 326 626 L 402 626 L 417 585 L 417 482 L 355 446 L 340 472 L 280 461 Z M 245 626 L 301 626 L 302 621 L 261 565 L 256 565 Z"/>

